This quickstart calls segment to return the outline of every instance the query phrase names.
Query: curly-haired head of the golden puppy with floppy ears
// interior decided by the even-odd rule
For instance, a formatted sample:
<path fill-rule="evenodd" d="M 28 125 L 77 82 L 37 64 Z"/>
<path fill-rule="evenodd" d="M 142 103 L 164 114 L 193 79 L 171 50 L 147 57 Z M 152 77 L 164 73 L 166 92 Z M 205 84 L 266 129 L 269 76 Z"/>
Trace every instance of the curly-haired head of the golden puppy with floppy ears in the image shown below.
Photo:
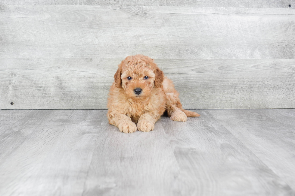
<path fill-rule="evenodd" d="M 153 88 L 160 88 L 163 71 L 148 56 L 127 56 L 114 75 L 117 88 L 123 88 L 128 97 L 141 99 L 151 95 Z"/>

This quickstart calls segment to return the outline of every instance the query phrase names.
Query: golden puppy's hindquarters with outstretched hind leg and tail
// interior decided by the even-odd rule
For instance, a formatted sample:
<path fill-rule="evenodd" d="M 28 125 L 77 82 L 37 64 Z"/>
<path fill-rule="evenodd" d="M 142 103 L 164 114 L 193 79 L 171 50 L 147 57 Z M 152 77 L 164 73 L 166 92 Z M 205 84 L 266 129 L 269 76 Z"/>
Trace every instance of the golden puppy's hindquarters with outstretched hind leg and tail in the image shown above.
<path fill-rule="evenodd" d="M 163 89 L 166 94 L 166 110 L 171 120 L 187 121 L 187 117 L 200 116 L 198 113 L 182 109 L 179 93 L 175 90 L 172 81 L 168 78 L 165 78 L 163 81 Z"/>

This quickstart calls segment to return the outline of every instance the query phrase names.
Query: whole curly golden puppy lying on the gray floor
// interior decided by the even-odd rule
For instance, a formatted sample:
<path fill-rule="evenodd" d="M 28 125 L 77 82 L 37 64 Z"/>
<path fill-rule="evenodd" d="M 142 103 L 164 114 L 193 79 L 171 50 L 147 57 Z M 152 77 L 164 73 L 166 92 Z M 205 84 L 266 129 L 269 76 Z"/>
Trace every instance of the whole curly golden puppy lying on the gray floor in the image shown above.
<path fill-rule="evenodd" d="M 172 81 L 148 56 L 127 56 L 118 67 L 110 87 L 107 118 L 121 132 L 151 131 L 165 110 L 175 121 L 200 116 L 182 109 Z"/>

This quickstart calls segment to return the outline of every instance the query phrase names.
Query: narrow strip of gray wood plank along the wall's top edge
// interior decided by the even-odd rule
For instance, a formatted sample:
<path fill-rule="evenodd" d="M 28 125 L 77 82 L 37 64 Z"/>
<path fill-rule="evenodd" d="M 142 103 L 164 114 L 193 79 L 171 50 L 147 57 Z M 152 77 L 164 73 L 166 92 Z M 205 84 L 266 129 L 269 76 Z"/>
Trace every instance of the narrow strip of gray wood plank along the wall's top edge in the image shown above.
<path fill-rule="evenodd" d="M 117 6 L 200 6 L 200 7 L 241 7 L 241 8 L 289 8 L 295 7 L 293 0 L 0 0 L 3 5 L 117 5 Z M 291 6 L 291 8 L 293 8 Z"/>

